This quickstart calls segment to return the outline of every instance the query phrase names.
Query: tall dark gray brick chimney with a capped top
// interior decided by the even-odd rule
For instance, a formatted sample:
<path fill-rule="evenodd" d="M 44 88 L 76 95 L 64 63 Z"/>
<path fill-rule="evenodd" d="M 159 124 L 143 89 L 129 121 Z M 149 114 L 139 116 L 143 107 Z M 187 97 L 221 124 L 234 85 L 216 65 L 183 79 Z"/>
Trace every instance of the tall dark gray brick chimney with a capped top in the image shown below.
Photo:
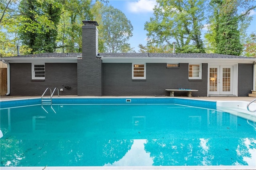
<path fill-rule="evenodd" d="M 82 58 L 77 61 L 78 96 L 102 96 L 102 60 L 98 57 L 98 23 L 82 21 Z"/>

